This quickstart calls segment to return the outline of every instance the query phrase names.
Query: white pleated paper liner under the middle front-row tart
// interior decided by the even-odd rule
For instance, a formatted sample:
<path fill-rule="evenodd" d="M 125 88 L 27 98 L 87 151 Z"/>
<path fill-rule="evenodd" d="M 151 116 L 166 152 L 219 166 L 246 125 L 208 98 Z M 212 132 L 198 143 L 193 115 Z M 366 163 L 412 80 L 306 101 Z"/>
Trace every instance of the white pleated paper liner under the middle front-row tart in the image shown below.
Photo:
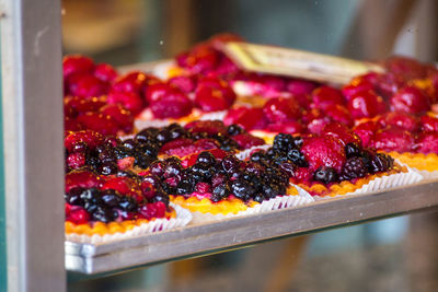
<path fill-rule="evenodd" d="M 201 213 L 201 212 L 195 211 L 195 212 L 192 212 L 192 214 L 193 214 L 192 223 L 194 223 L 194 224 L 195 223 L 204 223 L 204 222 L 222 220 L 222 219 L 227 219 L 227 218 L 263 213 L 263 212 L 268 212 L 268 211 L 277 210 L 277 209 L 296 208 L 299 206 L 314 202 L 313 197 L 310 196 L 309 192 L 307 192 L 302 188 L 300 188 L 296 185 L 292 185 L 292 184 L 290 184 L 289 187 L 296 187 L 298 190 L 298 195 L 285 195 L 281 197 L 278 196 L 276 198 L 263 201 L 262 203 L 256 205 L 252 208 L 247 208 L 244 211 L 240 211 L 235 214 L 234 213 L 211 214 L 211 213 Z"/>

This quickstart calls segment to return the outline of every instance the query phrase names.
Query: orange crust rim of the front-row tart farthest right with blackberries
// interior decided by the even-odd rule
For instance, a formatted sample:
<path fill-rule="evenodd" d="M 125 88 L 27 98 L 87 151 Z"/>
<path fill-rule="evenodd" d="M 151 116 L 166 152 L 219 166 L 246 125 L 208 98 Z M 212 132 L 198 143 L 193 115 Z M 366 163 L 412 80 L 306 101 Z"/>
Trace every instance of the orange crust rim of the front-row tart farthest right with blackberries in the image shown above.
<path fill-rule="evenodd" d="M 319 184 L 319 183 L 314 183 L 311 185 L 308 185 L 308 184 L 297 184 L 297 185 L 299 187 L 303 188 L 306 191 L 308 191 L 312 196 L 334 197 L 337 195 L 345 195 L 345 194 L 358 190 L 364 185 L 368 184 L 369 182 L 371 182 L 378 177 L 383 177 L 383 176 L 397 174 L 397 173 L 407 173 L 407 168 L 405 166 L 394 165 L 394 167 L 391 171 L 385 172 L 385 173 L 372 174 L 372 175 L 368 175 L 366 177 L 355 179 L 354 182 L 344 180 L 338 184 L 332 184 L 328 186 Z"/>

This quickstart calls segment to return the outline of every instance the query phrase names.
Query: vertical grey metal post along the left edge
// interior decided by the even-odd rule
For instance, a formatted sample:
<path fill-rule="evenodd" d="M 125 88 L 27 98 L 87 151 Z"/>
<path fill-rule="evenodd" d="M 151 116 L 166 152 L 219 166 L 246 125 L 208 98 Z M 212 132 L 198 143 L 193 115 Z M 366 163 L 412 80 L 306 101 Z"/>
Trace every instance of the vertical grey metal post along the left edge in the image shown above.
<path fill-rule="evenodd" d="M 8 289 L 65 291 L 60 1 L 1 8 Z"/>

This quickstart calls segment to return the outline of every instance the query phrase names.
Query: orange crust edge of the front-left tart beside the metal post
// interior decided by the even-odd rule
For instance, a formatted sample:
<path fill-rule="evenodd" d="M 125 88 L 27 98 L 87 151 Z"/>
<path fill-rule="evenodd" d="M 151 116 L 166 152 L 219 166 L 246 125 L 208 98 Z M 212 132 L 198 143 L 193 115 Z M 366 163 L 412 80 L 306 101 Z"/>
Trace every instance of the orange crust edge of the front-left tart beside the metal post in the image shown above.
<path fill-rule="evenodd" d="M 176 218 L 176 211 L 171 208 L 170 212 L 165 212 L 165 219 Z M 70 221 L 65 222 L 66 234 L 83 234 L 92 236 L 94 234 L 105 235 L 105 234 L 114 234 L 114 233 L 124 233 L 134 229 L 135 226 L 139 226 L 141 224 L 148 223 L 150 221 L 155 220 L 157 218 L 152 218 L 151 220 L 147 219 L 135 219 L 135 220 L 126 220 L 122 222 L 89 222 L 84 224 L 74 224 Z"/>

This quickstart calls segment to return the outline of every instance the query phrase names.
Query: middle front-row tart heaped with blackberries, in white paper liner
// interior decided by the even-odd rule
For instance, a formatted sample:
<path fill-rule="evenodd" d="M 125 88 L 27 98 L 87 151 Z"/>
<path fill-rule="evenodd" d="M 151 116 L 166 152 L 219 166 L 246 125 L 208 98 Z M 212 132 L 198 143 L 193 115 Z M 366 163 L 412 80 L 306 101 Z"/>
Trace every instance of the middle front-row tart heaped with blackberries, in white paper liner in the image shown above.
<path fill-rule="evenodd" d="M 183 160 L 168 157 L 153 163 L 143 175 L 151 188 L 163 188 L 172 202 L 196 213 L 196 219 L 242 215 L 313 201 L 290 185 L 280 168 L 244 162 L 223 150 L 204 151 Z"/>

